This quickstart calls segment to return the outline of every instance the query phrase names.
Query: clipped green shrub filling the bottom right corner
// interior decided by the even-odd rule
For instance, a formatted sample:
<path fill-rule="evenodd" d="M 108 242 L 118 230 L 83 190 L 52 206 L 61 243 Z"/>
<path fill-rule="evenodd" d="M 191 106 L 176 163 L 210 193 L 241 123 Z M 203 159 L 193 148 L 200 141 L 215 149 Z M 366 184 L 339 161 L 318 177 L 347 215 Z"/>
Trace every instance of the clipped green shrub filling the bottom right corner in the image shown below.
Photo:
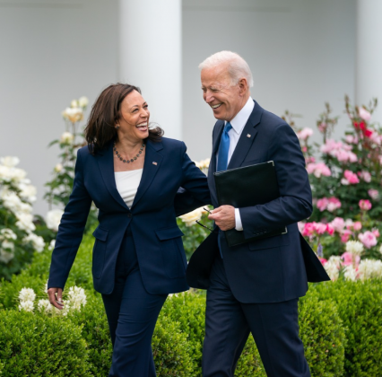
<path fill-rule="evenodd" d="M 345 377 L 382 375 L 382 281 L 343 281 L 315 286 L 318 298 L 333 300 L 343 320 Z"/>

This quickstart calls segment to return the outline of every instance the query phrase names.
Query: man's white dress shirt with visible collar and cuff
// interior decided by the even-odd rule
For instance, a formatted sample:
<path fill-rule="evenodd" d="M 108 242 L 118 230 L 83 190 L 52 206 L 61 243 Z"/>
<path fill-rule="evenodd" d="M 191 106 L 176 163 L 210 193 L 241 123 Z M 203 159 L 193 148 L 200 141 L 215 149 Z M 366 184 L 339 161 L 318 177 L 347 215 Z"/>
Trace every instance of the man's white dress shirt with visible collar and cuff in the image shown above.
<path fill-rule="evenodd" d="M 230 149 L 228 151 L 228 163 L 230 163 L 230 158 L 232 157 L 232 154 L 235 151 L 236 145 L 238 145 L 241 133 L 243 132 L 244 126 L 246 126 L 247 120 L 249 116 L 251 115 L 252 111 L 254 110 L 254 107 L 255 107 L 255 102 L 253 101 L 252 97 L 249 96 L 247 103 L 243 106 L 243 109 L 241 109 L 238 112 L 238 114 L 236 114 L 236 117 L 230 121 L 230 125 L 232 126 L 232 128 L 228 132 L 228 135 L 230 136 Z M 224 125 L 226 123 L 227 121 L 224 123 Z M 218 154 L 219 154 L 219 150 L 216 153 L 216 165 L 218 163 Z M 243 224 L 241 224 L 239 208 L 235 208 L 235 229 L 237 231 L 243 230 Z"/>

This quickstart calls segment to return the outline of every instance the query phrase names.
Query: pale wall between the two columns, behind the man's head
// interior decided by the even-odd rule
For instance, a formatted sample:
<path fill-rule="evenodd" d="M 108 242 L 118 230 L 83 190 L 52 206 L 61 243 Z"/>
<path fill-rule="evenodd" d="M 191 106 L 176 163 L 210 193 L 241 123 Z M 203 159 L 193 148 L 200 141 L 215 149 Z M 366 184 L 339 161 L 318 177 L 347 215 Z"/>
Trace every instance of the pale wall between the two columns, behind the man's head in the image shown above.
<path fill-rule="evenodd" d="M 342 116 L 342 135 L 343 97 L 354 98 L 355 21 L 355 0 L 184 0 L 183 137 L 190 157 L 210 157 L 215 120 L 197 66 L 222 49 L 247 60 L 252 96 L 266 110 L 291 110 L 303 116 L 298 126 L 316 127 L 329 101 Z"/>

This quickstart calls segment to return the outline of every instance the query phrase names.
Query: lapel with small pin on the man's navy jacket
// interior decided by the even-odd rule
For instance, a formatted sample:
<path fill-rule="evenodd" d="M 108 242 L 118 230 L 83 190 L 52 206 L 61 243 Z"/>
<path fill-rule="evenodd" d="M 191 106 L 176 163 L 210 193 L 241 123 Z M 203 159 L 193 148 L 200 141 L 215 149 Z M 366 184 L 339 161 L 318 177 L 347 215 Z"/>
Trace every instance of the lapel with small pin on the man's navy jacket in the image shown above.
<path fill-rule="evenodd" d="M 230 158 L 228 169 L 238 168 L 247 156 L 249 149 L 253 145 L 253 142 L 257 135 L 256 126 L 260 123 L 263 109 L 255 101 L 255 108 L 247 120 L 246 126 L 244 126 L 241 136 L 239 137 L 238 145 Z"/>

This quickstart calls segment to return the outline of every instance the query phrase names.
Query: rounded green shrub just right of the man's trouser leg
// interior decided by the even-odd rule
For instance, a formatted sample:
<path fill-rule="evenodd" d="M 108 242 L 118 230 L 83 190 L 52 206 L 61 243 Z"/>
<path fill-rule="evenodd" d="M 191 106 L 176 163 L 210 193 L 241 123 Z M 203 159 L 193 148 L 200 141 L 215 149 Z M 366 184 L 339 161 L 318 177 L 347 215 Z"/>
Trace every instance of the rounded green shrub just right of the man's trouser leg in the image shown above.
<path fill-rule="evenodd" d="M 318 301 L 317 293 L 308 291 L 300 299 L 299 319 L 300 338 L 312 376 L 342 376 L 346 338 L 335 303 Z"/>

